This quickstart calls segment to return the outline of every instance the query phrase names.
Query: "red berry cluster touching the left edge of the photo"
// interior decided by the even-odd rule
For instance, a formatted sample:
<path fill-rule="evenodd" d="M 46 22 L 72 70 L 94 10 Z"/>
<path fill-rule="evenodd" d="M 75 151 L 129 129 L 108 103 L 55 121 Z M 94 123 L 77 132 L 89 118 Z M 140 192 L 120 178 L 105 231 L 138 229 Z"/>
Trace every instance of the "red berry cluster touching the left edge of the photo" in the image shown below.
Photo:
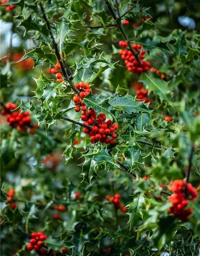
<path fill-rule="evenodd" d="M 10 112 L 8 111 L 15 110 L 17 108 L 16 104 L 12 104 L 11 102 L 8 102 L 6 104 L 6 109 L 3 107 L 1 110 L 2 115 L 7 115 L 6 121 L 8 122 L 9 126 L 16 127 L 18 131 L 26 132 L 27 128 L 30 127 L 30 134 L 33 134 L 35 129 L 38 128 L 38 124 L 33 124 L 31 126 L 31 117 L 29 115 L 29 112 L 26 111 L 21 114 L 22 110 Z"/>

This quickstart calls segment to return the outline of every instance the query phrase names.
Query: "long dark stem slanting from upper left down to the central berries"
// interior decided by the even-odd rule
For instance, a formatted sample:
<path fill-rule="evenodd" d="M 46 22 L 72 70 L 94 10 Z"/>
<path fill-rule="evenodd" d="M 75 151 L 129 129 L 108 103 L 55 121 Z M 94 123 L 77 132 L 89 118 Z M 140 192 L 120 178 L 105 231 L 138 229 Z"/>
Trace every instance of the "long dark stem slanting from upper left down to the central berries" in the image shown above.
<path fill-rule="evenodd" d="M 56 41 L 55 41 L 55 39 L 54 39 L 54 35 L 53 35 L 53 33 L 52 33 L 52 30 L 51 30 L 50 23 L 49 23 L 49 21 L 48 21 L 48 19 L 47 19 L 47 17 L 46 17 L 46 14 L 45 14 L 45 12 L 44 12 L 44 8 L 43 8 L 43 6 L 42 6 L 41 3 L 40 3 L 40 8 L 41 8 L 41 10 L 42 10 L 42 16 L 43 16 L 43 18 L 44 18 L 44 20 L 45 20 L 45 22 L 46 22 L 46 26 L 47 26 L 47 28 L 48 28 L 48 30 L 49 30 L 49 32 L 50 32 L 50 36 L 51 36 L 51 39 L 52 39 L 52 44 L 53 44 L 53 46 L 54 46 L 56 57 L 57 57 L 58 62 L 59 62 L 59 64 L 60 64 L 62 73 L 63 73 L 63 75 L 64 75 L 64 80 L 65 80 L 65 81 L 68 81 L 68 82 L 70 83 L 71 88 L 72 88 L 73 90 L 75 90 L 75 92 L 79 95 L 79 90 L 78 90 L 78 89 L 74 86 L 74 84 L 71 82 L 71 80 L 73 79 L 73 76 L 72 76 L 72 72 L 71 72 L 70 68 L 68 67 L 68 65 L 66 64 L 65 61 L 62 61 L 62 60 L 61 60 L 60 52 L 59 52 L 59 50 L 58 50 L 58 45 L 56 44 Z M 67 72 L 66 72 L 66 70 L 67 70 Z"/>

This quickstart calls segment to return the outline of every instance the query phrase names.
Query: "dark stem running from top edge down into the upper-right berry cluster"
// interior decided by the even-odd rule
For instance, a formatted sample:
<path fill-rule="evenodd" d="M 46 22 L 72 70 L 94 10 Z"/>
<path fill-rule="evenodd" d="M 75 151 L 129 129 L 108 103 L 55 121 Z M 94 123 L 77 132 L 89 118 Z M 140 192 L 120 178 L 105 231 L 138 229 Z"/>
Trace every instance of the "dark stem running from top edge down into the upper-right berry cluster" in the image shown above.
<path fill-rule="evenodd" d="M 121 18 L 120 17 L 117 17 L 116 14 L 114 13 L 114 10 L 111 6 L 111 4 L 109 3 L 108 0 L 104 0 L 106 6 L 108 7 L 108 10 L 111 14 L 111 16 L 114 18 L 115 22 L 116 22 L 116 25 L 118 26 L 124 40 L 126 40 L 126 42 L 128 43 L 128 46 L 130 48 L 130 51 L 132 52 L 132 54 L 135 56 L 136 60 L 140 63 L 140 59 L 138 58 L 138 54 L 136 54 L 131 46 L 131 43 L 129 42 L 128 40 L 128 36 L 126 35 L 126 32 L 124 31 L 124 28 L 122 26 L 122 23 L 121 23 Z"/>

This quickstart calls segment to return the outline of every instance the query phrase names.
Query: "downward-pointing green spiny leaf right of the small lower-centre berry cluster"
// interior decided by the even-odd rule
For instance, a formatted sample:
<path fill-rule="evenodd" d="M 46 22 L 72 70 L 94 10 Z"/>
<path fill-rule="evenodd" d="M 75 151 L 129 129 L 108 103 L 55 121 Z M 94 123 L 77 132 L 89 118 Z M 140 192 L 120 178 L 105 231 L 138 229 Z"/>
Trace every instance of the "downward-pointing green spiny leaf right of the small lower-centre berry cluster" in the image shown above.
<path fill-rule="evenodd" d="M 143 212 L 145 209 L 145 199 L 142 193 L 137 193 L 133 196 L 133 202 L 128 204 L 128 215 L 130 229 L 136 226 L 140 220 L 143 218 Z"/>

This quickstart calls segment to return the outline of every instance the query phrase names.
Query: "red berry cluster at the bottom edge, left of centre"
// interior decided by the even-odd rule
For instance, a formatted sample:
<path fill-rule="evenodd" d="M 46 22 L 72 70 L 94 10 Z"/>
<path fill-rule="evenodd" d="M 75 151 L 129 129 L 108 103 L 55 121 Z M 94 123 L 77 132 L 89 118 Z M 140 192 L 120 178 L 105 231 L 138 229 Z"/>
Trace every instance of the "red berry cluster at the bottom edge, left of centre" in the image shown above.
<path fill-rule="evenodd" d="M 47 254 L 46 246 L 44 244 L 44 240 L 48 238 L 47 235 L 44 235 L 42 231 L 39 232 L 32 232 L 31 233 L 31 239 L 30 239 L 30 244 L 26 246 L 26 249 L 29 251 L 32 251 L 33 249 L 42 254 L 42 256 L 45 256 Z"/>

